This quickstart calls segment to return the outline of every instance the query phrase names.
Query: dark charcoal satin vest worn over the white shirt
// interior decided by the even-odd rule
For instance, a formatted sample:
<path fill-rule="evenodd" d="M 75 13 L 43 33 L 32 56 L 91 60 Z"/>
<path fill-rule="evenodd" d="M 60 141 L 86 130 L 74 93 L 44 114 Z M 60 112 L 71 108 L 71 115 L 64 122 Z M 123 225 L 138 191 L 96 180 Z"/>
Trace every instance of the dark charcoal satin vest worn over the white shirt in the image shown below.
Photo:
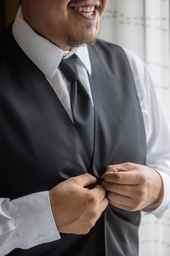
<path fill-rule="evenodd" d="M 98 40 L 89 46 L 89 82 L 95 109 L 92 165 L 69 116 L 43 73 L 22 52 L 11 27 L 0 38 L 0 197 L 49 190 L 107 165 L 145 165 L 145 129 L 130 66 L 123 49 Z M 140 213 L 109 204 L 86 235 L 61 239 L 10 256 L 137 256 Z"/>

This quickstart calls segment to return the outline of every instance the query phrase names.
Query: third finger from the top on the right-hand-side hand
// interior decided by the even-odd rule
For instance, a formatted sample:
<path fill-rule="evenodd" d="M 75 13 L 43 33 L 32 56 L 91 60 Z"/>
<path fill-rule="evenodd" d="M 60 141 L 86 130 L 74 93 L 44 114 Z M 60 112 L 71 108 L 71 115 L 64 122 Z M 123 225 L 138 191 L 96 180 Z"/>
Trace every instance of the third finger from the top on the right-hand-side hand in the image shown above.
<path fill-rule="evenodd" d="M 139 191 L 138 185 L 122 185 L 122 184 L 104 181 L 102 183 L 102 186 L 104 186 L 104 188 L 107 191 L 115 192 L 116 194 L 126 195 L 126 196 L 135 195 L 136 192 Z"/>

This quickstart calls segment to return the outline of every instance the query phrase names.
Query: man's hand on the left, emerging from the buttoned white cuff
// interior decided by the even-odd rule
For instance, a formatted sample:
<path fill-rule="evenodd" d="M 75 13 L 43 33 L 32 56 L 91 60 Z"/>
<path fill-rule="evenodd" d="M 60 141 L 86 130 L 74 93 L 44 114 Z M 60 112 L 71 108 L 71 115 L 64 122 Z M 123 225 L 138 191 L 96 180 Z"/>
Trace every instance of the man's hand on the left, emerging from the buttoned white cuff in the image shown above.
<path fill-rule="evenodd" d="M 71 177 L 49 191 L 51 210 L 57 230 L 66 234 L 87 234 L 108 204 L 103 186 L 90 174 Z"/>

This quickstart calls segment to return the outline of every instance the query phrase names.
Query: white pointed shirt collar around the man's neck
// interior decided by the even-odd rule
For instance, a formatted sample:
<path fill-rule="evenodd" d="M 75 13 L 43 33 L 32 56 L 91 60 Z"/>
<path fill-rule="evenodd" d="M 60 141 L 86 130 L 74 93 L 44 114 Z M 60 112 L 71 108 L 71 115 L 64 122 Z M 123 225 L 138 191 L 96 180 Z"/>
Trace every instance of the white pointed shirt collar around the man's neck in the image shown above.
<path fill-rule="evenodd" d="M 89 52 L 87 46 L 80 46 L 71 51 L 64 52 L 62 49 L 54 46 L 49 40 L 37 34 L 30 25 L 23 19 L 22 7 L 16 15 L 13 22 L 13 37 L 19 44 L 23 52 L 39 67 L 42 73 L 52 79 L 62 58 L 69 58 L 75 53 L 86 67 L 91 75 L 91 64 L 89 61 Z"/>

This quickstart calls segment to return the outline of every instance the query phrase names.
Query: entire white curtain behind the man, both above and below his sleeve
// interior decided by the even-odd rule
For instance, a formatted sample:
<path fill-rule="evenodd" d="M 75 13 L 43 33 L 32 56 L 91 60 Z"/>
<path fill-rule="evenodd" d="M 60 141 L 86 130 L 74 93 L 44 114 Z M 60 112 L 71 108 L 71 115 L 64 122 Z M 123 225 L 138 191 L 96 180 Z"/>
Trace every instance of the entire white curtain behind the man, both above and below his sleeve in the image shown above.
<path fill-rule="evenodd" d="M 170 124 L 169 1 L 110 0 L 98 37 L 132 50 L 145 62 Z M 170 256 L 170 211 L 161 220 L 142 214 L 139 256 Z"/>

